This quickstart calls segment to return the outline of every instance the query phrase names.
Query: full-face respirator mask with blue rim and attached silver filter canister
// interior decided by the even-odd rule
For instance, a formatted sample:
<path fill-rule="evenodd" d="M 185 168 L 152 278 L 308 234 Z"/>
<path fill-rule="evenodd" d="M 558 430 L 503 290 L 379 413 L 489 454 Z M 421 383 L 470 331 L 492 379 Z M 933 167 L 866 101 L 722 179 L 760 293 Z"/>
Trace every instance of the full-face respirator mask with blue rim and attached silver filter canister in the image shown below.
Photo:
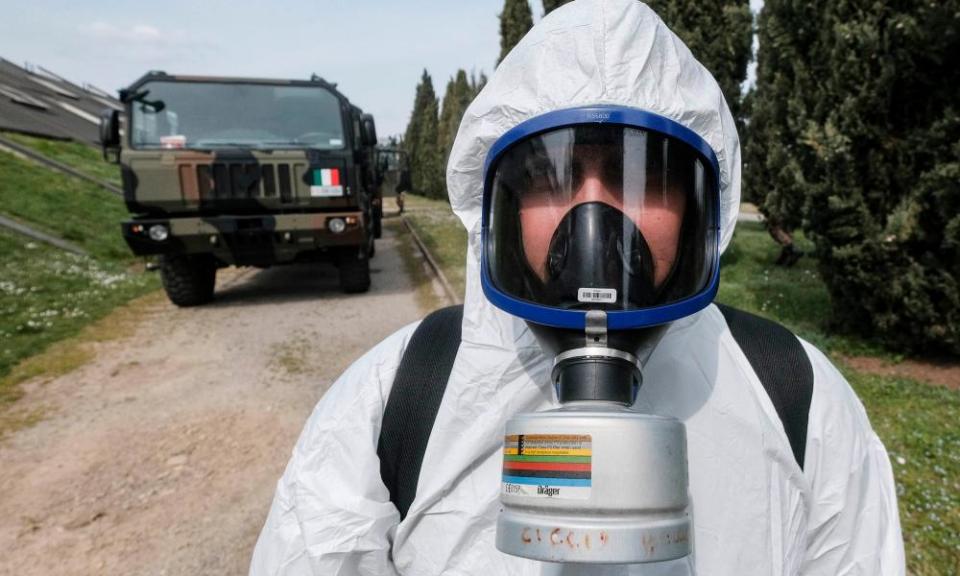
<path fill-rule="evenodd" d="M 690 553 L 683 424 L 631 406 L 669 322 L 716 294 L 718 181 L 702 138 L 631 108 L 550 112 L 491 148 L 484 293 L 554 358 L 561 404 L 507 423 L 501 551 L 572 563 Z"/>

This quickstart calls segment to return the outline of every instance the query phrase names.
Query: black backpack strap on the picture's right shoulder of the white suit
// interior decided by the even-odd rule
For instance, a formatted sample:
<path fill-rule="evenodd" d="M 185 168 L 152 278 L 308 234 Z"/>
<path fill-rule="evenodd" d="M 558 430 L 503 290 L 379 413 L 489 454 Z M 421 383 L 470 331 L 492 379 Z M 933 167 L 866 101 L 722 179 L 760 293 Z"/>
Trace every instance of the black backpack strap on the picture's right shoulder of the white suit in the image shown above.
<path fill-rule="evenodd" d="M 765 318 L 717 304 L 783 422 L 793 457 L 803 468 L 813 365 L 792 332 Z"/>

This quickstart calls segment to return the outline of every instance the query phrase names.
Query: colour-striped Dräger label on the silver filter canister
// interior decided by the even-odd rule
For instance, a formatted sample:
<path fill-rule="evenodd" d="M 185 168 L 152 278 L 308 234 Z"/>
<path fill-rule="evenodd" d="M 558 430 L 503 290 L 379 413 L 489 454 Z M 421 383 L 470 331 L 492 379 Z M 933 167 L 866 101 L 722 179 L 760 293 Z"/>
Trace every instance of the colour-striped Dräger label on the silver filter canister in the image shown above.
<path fill-rule="evenodd" d="M 591 487 L 589 434 L 512 434 L 503 439 L 503 493 L 533 498 L 587 499 Z"/>

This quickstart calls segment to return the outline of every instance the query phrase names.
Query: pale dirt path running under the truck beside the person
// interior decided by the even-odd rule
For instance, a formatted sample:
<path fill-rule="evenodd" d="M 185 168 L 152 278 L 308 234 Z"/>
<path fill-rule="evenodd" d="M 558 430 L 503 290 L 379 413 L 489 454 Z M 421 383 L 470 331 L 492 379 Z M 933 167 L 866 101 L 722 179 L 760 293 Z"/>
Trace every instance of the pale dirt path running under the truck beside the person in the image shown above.
<path fill-rule="evenodd" d="M 225 272 L 214 305 L 151 305 L 28 386 L 20 404 L 51 415 L 0 445 L 0 574 L 245 574 L 313 405 L 423 314 L 397 242 L 378 241 L 368 294 L 316 265 Z"/>

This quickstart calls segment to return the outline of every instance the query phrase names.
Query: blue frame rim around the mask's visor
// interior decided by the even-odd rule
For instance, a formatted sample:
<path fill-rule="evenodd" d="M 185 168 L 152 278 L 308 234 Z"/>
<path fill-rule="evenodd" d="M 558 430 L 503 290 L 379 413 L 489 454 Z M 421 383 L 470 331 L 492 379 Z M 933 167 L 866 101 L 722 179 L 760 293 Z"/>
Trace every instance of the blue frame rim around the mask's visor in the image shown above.
<path fill-rule="evenodd" d="M 622 106 L 587 106 L 547 112 L 546 114 L 536 116 L 514 126 L 494 142 L 490 151 L 487 153 L 487 158 L 483 166 L 480 283 L 483 286 L 484 295 L 494 306 L 524 320 L 557 328 L 585 329 L 587 313 L 583 310 L 561 310 L 548 306 L 540 306 L 526 300 L 514 298 L 497 289 L 490 277 L 490 262 L 487 257 L 489 239 L 488 215 L 490 213 L 491 190 L 493 188 L 493 173 L 490 168 L 496 163 L 500 155 L 513 144 L 541 132 L 577 124 L 615 124 L 659 132 L 660 134 L 670 136 L 688 144 L 700 153 L 703 159 L 706 160 L 706 165 L 710 167 L 709 169 L 713 170 L 711 182 L 713 183 L 714 189 L 712 193 L 715 195 L 715 202 L 713 202 L 714 213 L 712 214 L 712 218 L 714 228 L 717 230 L 717 237 L 714 243 L 717 254 L 714 255 L 710 281 L 699 293 L 678 302 L 671 302 L 644 310 L 608 311 L 607 329 L 628 330 L 656 326 L 658 324 L 672 322 L 684 316 L 689 316 L 705 308 L 713 302 L 720 284 L 720 163 L 717 161 L 717 155 L 710 145 L 693 130 L 665 116 L 638 108 Z"/>

